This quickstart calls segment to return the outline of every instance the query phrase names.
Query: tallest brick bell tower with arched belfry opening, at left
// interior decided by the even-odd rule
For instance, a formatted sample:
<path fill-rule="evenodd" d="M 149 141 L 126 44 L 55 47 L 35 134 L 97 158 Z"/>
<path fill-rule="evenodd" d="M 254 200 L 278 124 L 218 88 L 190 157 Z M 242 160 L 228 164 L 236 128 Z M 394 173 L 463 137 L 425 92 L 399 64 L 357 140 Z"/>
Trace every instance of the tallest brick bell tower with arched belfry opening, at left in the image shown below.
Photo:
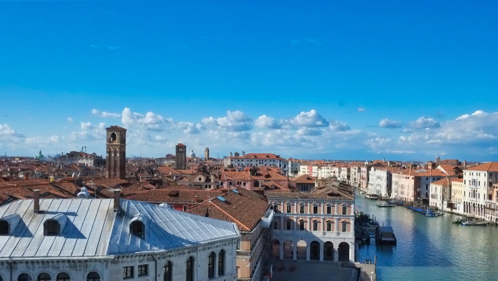
<path fill-rule="evenodd" d="M 119 126 L 106 128 L 106 178 L 125 178 L 126 129 Z"/>

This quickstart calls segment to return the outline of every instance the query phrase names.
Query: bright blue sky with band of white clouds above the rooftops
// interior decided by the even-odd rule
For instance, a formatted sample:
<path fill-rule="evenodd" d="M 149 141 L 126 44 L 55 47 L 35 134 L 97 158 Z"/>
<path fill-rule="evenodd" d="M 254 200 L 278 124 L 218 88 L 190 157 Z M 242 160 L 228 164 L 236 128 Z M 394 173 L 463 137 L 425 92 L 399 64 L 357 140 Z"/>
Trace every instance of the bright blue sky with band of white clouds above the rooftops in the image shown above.
<path fill-rule="evenodd" d="M 495 160 L 496 1 L 0 1 L 0 154 Z"/>

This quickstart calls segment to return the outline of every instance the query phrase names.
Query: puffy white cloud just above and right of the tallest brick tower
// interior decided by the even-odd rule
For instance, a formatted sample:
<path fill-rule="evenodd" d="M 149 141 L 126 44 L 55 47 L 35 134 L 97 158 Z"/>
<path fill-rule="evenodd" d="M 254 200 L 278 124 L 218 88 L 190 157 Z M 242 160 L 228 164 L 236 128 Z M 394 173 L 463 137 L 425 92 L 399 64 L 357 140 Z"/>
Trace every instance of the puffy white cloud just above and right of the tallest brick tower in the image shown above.
<path fill-rule="evenodd" d="M 132 128 L 139 127 L 148 131 L 161 131 L 166 125 L 173 125 L 172 119 L 166 119 L 153 112 L 147 112 L 145 115 L 131 112 L 129 108 L 124 108 L 121 114 L 121 122 L 124 126 Z"/>

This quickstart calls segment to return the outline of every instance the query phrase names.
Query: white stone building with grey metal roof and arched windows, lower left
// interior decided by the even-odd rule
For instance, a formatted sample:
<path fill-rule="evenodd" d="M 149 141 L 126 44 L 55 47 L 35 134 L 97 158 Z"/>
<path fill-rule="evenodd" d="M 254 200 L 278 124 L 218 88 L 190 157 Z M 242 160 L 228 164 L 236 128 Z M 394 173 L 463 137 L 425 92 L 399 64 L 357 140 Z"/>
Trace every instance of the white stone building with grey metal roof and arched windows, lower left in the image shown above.
<path fill-rule="evenodd" d="M 1 206 L 0 280 L 236 279 L 234 223 L 116 194 Z"/>

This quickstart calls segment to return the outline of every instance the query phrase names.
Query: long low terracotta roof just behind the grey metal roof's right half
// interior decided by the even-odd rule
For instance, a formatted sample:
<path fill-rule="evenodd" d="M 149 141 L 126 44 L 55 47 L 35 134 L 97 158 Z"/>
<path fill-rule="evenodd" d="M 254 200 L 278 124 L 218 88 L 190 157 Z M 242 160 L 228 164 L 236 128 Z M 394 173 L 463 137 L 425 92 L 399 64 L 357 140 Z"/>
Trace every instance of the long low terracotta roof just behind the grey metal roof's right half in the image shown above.
<path fill-rule="evenodd" d="M 144 191 L 140 194 L 126 197 L 126 199 L 144 201 L 149 203 L 195 203 L 197 196 L 198 202 L 209 200 L 216 196 L 222 195 L 222 191 L 197 190 L 197 189 L 173 189 L 161 188 Z"/>

